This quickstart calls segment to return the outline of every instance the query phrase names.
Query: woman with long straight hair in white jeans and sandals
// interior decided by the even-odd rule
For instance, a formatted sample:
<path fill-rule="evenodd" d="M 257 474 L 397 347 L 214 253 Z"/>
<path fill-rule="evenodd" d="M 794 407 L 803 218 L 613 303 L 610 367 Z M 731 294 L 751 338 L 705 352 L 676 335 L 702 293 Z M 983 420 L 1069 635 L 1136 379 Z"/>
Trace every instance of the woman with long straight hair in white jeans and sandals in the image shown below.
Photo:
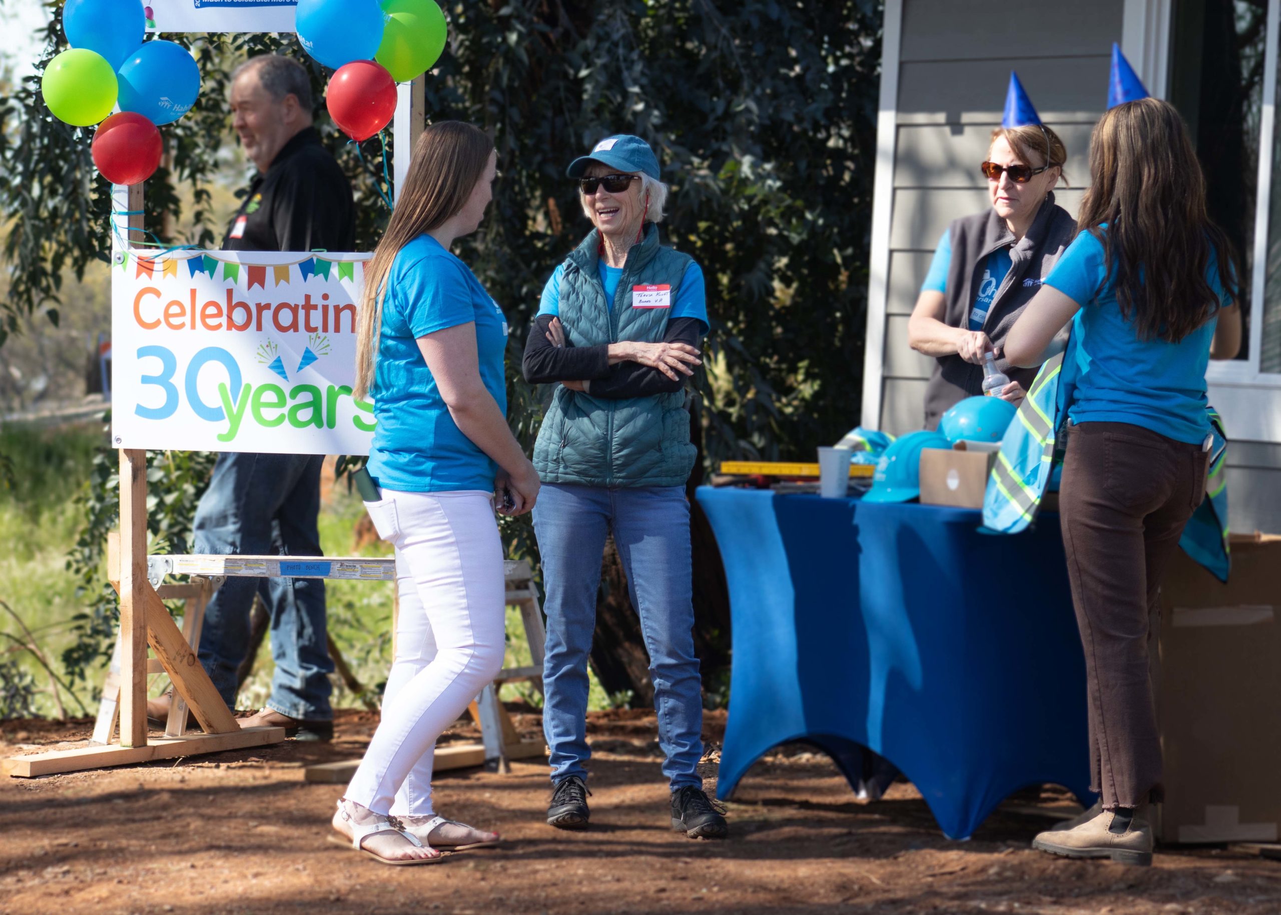
<path fill-rule="evenodd" d="M 498 842 L 432 806 L 436 738 L 502 668 L 493 500 L 519 515 L 539 487 L 505 416 L 507 322 L 450 254 L 480 226 L 494 165 L 478 128 L 428 127 L 365 270 L 355 396 L 373 397 L 378 420 L 368 466 L 377 497 L 365 507 L 396 547 L 400 616 L 382 721 L 333 828 L 384 864 Z"/>

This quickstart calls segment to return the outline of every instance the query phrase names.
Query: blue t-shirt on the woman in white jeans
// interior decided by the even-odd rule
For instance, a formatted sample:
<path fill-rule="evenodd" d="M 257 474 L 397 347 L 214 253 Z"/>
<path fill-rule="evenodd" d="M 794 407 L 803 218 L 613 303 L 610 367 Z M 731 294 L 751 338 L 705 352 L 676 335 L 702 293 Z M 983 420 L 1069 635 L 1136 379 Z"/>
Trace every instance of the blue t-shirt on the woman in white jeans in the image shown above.
<path fill-rule="evenodd" d="M 374 431 L 369 473 L 405 492 L 493 492 L 497 465 L 450 415 L 418 338 L 475 322 L 480 381 L 507 413 L 503 354 L 507 319 L 468 265 L 420 235 L 401 249 L 387 276 L 383 329 L 374 370 Z"/>

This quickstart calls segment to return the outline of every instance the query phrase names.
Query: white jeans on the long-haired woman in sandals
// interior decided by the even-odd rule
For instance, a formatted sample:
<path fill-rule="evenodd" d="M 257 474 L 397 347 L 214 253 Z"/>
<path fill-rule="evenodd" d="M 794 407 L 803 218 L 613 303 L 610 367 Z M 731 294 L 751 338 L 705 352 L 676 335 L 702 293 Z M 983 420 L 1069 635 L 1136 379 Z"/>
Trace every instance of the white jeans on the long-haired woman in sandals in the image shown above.
<path fill-rule="evenodd" d="M 396 547 L 396 659 L 346 797 L 375 814 L 429 816 L 436 738 L 502 669 L 502 545 L 489 492 L 380 495 L 365 507 Z"/>

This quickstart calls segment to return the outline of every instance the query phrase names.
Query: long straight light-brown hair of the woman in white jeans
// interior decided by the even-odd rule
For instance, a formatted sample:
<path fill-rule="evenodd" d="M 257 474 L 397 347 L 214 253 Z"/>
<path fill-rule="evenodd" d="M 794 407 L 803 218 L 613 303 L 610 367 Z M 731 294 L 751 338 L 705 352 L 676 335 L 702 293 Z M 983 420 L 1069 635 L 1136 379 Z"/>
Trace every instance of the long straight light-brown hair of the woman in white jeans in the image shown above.
<path fill-rule="evenodd" d="M 489 165 L 493 141 L 461 120 L 432 124 L 414 145 L 405 187 L 374 256 L 365 265 L 365 286 L 356 322 L 356 384 L 363 400 L 374 383 L 374 361 L 383 329 L 387 277 L 400 250 L 424 232 L 439 228 L 461 210 Z"/>

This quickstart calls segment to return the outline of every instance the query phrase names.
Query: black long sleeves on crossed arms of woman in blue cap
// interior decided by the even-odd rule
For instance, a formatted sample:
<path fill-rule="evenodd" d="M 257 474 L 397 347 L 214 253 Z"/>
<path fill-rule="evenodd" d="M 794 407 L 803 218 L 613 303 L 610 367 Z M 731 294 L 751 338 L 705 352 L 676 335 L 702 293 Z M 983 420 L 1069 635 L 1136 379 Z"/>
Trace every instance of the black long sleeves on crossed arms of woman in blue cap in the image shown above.
<path fill-rule="evenodd" d="M 608 346 L 555 346 L 547 338 L 553 315 L 539 315 L 525 340 L 521 370 L 530 384 L 553 384 L 562 381 L 587 382 L 593 397 L 623 400 L 671 393 L 685 386 L 687 375 L 673 381 L 658 369 L 640 363 L 624 361 L 610 365 Z M 674 318 L 662 336 L 665 343 L 688 343 L 697 347 L 703 337 L 698 318 Z"/>

